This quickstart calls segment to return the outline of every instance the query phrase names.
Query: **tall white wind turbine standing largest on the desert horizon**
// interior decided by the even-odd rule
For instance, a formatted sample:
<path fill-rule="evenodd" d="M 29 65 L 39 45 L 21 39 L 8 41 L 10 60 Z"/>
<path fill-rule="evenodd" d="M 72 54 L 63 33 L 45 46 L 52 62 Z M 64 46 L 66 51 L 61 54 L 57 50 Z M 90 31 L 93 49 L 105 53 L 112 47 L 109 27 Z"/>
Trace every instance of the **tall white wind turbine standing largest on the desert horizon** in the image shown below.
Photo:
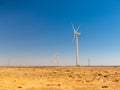
<path fill-rule="evenodd" d="M 80 26 L 78 26 L 77 29 L 75 29 L 74 25 L 72 25 L 72 28 L 74 30 L 74 36 L 73 36 L 73 41 L 76 38 L 76 66 L 78 66 L 78 60 L 79 60 L 79 56 L 78 56 L 78 36 L 80 35 L 80 33 L 78 32 L 78 29 L 80 28 Z"/>

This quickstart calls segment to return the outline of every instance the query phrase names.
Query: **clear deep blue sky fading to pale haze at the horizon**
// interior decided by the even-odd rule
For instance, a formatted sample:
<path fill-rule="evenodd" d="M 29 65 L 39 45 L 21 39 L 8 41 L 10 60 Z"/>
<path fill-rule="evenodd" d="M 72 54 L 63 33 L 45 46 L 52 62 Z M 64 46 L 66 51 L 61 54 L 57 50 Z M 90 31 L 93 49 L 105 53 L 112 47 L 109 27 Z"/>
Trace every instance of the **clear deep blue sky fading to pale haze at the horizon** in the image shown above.
<path fill-rule="evenodd" d="M 119 0 L 0 0 L 0 65 L 120 65 Z"/>

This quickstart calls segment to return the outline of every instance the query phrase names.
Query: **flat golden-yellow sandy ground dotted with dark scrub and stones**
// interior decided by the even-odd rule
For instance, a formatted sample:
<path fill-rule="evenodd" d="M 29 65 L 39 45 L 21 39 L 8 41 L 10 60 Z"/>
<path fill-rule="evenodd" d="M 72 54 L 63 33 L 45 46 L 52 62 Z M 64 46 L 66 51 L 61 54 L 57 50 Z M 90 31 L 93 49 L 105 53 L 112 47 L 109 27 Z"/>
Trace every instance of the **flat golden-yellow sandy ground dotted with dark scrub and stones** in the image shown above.
<path fill-rule="evenodd" d="M 120 67 L 0 67 L 0 90 L 120 90 Z"/>

